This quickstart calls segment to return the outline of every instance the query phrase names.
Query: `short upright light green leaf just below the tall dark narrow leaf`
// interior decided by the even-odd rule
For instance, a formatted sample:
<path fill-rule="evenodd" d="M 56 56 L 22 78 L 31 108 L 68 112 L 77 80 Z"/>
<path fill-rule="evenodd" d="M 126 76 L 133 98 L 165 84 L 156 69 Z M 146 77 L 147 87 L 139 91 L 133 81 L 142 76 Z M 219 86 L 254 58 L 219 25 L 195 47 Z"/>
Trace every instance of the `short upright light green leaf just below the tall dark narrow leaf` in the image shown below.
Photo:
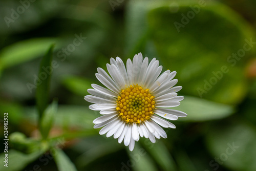
<path fill-rule="evenodd" d="M 41 122 L 40 122 L 40 132 L 42 138 L 46 139 L 49 135 L 49 132 L 52 128 L 54 117 L 57 114 L 58 103 L 57 101 L 53 101 L 51 105 L 45 110 L 44 114 L 42 115 Z"/>

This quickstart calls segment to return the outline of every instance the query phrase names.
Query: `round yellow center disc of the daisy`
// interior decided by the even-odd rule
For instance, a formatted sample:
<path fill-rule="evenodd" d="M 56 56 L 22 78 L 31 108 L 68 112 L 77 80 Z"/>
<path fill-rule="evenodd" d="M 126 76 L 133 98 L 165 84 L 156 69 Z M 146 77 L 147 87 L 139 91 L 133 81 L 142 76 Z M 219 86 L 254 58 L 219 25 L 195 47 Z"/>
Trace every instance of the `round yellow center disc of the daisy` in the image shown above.
<path fill-rule="evenodd" d="M 148 89 L 138 84 L 122 90 L 116 100 L 119 118 L 126 123 L 141 123 L 150 119 L 155 109 L 154 98 Z"/>

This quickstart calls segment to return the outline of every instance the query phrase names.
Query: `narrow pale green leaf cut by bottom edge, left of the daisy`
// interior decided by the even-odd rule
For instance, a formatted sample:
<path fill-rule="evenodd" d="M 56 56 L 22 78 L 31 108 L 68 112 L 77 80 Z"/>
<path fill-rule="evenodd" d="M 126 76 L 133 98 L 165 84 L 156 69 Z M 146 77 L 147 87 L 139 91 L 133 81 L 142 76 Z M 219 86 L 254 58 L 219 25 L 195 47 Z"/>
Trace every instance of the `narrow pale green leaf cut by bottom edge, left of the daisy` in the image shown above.
<path fill-rule="evenodd" d="M 69 157 L 60 149 L 56 149 L 56 155 L 54 155 L 54 160 L 57 164 L 59 171 L 76 171 L 75 165 L 71 162 Z"/>

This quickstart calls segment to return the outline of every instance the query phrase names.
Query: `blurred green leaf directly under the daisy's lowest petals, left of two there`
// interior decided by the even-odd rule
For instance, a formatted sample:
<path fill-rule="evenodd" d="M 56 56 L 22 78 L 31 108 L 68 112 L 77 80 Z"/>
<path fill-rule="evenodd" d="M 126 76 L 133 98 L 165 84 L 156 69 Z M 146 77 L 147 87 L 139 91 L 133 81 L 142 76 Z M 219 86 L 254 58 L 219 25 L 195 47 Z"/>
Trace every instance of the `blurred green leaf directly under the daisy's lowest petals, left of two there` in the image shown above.
<path fill-rule="evenodd" d="M 129 164 L 133 167 L 133 170 L 148 170 L 155 171 L 158 170 L 150 154 L 147 153 L 146 149 L 141 147 L 138 143 L 135 144 L 135 147 L 132 152 L 127 148 L 128 156 L 130 161 L 124 162 L 127 170 L 129 170 Z M 126 165 L 127 164 L 127 165 Z"/>

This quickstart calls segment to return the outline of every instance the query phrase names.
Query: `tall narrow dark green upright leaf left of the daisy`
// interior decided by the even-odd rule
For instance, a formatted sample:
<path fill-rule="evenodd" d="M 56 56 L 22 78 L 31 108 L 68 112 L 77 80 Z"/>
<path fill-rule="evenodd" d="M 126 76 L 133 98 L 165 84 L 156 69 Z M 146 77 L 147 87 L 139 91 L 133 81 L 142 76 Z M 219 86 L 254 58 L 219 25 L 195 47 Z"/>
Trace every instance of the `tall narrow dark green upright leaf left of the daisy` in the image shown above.
<path fill-rule="evenodd" d="M 41 80 L 36 89 L 36 104 L 39 112 L 39 119 L 42 117 L 45 109 L 48 106 L 49 100 L 49 90 L 50 90 L 50 80 L 51 80 L 51 72 L 46 72 L 45 68 L 51 68 L 52 66 L 52 53 L 53 53 L 53 45 L 51 45 L 47 54 L 42 58 L 39 68 L 38 77 L 41 77 L 40 74 L 44 74 L 45 79 Z"/>

